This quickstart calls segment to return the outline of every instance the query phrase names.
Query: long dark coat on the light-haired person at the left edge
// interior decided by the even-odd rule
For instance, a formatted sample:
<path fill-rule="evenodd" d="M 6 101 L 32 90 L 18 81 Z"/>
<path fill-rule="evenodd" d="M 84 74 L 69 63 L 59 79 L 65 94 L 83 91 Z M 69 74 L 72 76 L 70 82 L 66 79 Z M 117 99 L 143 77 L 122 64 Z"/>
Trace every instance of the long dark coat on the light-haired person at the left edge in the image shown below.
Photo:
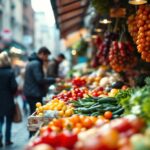
<path fill-rule="evenodd" d="M 14 95 L 17 91 L 15 74 L 10 67 L 0 67 L 0 117 L 14 112 Z"/>

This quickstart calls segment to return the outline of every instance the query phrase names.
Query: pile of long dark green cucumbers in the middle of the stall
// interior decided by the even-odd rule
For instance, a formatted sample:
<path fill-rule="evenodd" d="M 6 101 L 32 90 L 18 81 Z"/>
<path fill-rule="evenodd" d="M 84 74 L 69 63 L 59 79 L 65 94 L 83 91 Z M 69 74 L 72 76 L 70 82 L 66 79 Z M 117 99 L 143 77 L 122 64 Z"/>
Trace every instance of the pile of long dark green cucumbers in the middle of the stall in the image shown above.
<path fill-rule="evenodd" d="M 111 119 L 119 117 L 124 111 L 114 97 L 87 97 L 72 103 L 75 114 L 86 116 L 99 116 L 109 112 L 111 116 L 107 119 Z"/>

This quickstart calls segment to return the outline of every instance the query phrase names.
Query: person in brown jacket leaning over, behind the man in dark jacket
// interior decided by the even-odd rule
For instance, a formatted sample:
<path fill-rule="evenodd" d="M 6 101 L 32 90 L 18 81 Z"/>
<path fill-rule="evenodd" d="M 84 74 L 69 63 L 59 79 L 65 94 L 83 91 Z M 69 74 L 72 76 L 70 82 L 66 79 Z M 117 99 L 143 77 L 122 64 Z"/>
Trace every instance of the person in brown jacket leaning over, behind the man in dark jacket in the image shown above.
<path fill-rule="evenodd" d="M 52 60 L 48 65 L 47 76 L 58 77 L 59 76 L 59 65 L 65 60 L 63 54 L 59 54 L 56 59 Z"/>

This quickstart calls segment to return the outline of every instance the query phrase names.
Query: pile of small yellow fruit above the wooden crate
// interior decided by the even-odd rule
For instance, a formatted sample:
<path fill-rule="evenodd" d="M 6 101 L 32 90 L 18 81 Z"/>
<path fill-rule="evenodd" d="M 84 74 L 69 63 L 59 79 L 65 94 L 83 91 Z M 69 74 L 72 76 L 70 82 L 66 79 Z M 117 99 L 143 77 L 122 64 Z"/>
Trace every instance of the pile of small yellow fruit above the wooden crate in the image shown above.
<path fill-rule="evenodd" d="M 36 116 L 48 118 L 69 117 L 74 114 L 73 107 L 66 105 L 65 102 L 57 98 L 51 100 L 45 105 L 36 104 Z"/>

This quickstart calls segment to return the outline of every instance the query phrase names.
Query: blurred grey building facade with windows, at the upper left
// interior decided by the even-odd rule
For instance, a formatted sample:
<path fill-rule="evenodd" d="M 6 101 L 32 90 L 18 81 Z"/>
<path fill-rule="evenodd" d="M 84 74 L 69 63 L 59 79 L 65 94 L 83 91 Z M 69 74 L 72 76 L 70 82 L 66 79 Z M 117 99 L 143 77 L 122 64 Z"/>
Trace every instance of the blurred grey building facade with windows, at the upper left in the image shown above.
<path fill-rule="evenodd" d="M 27 48 L 34 47 L 34 11 L 31 0 L 0 0 L 0 32 Z"/>

